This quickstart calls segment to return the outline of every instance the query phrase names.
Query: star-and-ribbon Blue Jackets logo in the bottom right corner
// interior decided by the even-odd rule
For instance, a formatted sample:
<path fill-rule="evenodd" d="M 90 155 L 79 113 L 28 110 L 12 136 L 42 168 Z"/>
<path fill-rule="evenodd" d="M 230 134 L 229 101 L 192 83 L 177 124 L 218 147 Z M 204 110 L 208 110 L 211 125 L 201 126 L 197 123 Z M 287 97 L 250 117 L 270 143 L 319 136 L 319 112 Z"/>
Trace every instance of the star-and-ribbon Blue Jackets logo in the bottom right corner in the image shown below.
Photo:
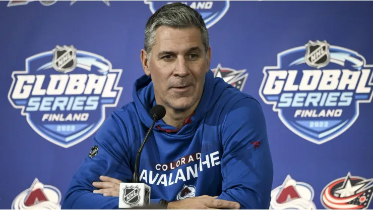
<path fill-rule="evenodd" d="M 367 209 L 373 194 L 373 179 L 351 176 L 350 172 L 323 189 L 321 204 L 327 209 Z"/>

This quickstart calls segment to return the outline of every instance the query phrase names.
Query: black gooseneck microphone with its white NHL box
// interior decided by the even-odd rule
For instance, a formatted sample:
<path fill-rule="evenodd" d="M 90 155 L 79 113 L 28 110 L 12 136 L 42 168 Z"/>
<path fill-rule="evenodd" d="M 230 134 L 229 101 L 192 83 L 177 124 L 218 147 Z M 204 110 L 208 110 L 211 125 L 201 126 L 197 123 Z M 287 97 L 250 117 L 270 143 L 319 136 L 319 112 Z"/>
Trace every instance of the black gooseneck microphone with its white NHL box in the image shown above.
<path fill-rule="evenodd" d="M 119 208 L 132 208 L 134 206 L 144 206 L 150 204 L 150 186 L 145 183 L 141 183 L 139 178 L 140 155 L 155 123 L 158 120 L 161 120 L 165 115 L 166 109 L 162 105 L 157 104 L 150 110 L 150 116 L 153 119 L 153 123 L 146 133 L 144 141 L 137 152 L 135 171 L 131 180 L 132 183 L 122 182 L 119 185 Z"/>

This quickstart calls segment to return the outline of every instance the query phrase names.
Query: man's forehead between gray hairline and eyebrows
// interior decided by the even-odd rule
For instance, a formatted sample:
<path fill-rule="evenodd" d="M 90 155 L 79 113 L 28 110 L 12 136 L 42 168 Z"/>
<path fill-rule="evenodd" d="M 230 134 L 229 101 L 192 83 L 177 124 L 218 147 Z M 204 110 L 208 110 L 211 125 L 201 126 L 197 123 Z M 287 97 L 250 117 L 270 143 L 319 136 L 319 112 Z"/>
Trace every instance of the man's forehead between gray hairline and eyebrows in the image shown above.
<path fill-rule="evenodd" d="M 182 51 L 199 46 L 203 49 L 201 31 L 199 28 L 176 29 L 161 26 L 156 30 L 155 50 Z"/>

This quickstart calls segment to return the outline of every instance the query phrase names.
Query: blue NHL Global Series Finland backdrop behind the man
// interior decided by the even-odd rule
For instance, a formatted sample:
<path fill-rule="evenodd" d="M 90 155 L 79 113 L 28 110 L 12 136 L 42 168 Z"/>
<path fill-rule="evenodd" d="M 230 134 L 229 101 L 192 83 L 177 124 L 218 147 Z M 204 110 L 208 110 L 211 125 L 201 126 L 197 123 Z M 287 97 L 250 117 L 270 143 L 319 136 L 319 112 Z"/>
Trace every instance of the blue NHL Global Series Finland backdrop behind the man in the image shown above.
<path fill-rule="evenodd" d="M 60 208 L 97 129 L 132 101 L 146 21 L 166 3 L 0 2 L 0 208 Z M 271 208 L 368 208 L 373 4 L 185 4 L 209 29 L 215 76 L 263 107 Z"/>

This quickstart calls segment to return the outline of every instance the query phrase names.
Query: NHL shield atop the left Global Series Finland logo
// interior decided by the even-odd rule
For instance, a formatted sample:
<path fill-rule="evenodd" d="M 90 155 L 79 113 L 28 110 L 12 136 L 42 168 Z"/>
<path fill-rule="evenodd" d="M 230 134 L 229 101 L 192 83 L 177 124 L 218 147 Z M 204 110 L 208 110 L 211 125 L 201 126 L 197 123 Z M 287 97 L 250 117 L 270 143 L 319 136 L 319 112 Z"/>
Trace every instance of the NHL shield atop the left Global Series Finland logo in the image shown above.
<path fill-rule="evenodd" d="M 77 50 L 71 46 L 56 46 L 53 49 L 53 68 L 57 72 L 68 73 L 77 66 Z"/>

